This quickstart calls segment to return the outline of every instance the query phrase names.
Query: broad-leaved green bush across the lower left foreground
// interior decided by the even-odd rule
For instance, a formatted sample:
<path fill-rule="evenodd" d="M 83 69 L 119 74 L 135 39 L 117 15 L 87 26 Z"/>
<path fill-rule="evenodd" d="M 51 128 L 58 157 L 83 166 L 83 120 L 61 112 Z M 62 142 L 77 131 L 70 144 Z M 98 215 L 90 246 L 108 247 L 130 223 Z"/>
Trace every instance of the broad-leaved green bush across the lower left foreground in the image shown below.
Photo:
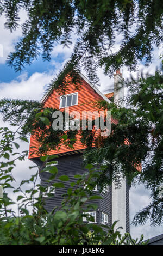
<path fill-rule="evenodd" d="M 123 237 L 119 229 L 114 230 L 116 222 L 112 227 L 107 227 L 108 231 L 102 229 L 103 225 L 84 223 L 83 216 L 93 222 L 92 216 L 87 216 L 85 212 L 97 208 L 96 204 L 90 204 L 100 196 L 92 196 L 91 191 L 83 188 L 84 184 L 89 184 L 98 177 L 98 173 L 91 164 L 87 164 L 87 173 L 76 175 L 76 182 L 71 184 L 67 192 L 63 194 L 60 208 L 54 208 L 52 212 L 47 212 L 42 192 L 47 187 L 42 187 L 37 183 L 39 172 L 47 170 L 51 173 L 48 180 L 53 187 L 64 187 L 64 181 L 69 178 L 66 175 L 60 176 L 61 182 L 54 182 L 57 175 L 57 168 L 46 166 L 46 162 L 55 156 L 43 156 L 42 167 L 30 176 L 28 180 L 22 180 L 17 188 L 12 186 L 14 177 L 12 169 L 16 166 L 18 159 L 23 161 L 28 151 L 22 154 L 15 151 L 19 144 L 15 142 L 17 132 L 10 131 L 7 127 L 1 128 L 0 143 L 0 185 L 3 187 L 3 197 L 0 199 L 0 243 L 1 245 L 121 245 L 121 244 L 143 244 L 143 236 L 140 241 L 131 239 L 130 234 Z M 19 139 L 27 140 L 19 137 Z M 18 156 L 17 156 L 18 155 Z M 11 157 L 15 159 L 10 160 Z M 6 160 L 6 161 L 4 161 Z M 30 167 L 33 168 L 33 167 Z M 23 185 L 30 185 L 30 189 L 23 190 Z M 16 202 L 9 198 L 8 189 L 17 195 Z M 48 193 L 48 197 L 53 197 Z M 13 210 L 13 205 L 17 205 L 17 213 Z"/>

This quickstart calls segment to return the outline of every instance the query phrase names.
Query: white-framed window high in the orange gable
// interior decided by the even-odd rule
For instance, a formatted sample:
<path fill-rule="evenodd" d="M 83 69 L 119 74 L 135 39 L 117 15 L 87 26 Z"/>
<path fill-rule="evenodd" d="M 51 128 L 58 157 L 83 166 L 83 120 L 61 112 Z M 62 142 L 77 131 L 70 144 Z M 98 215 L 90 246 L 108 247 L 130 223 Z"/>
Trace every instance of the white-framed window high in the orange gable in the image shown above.
<path fill-rule="evenodd" d="M 59 108 L 70 107 L 78 104 L 78 92 L 60 96 Z"/>

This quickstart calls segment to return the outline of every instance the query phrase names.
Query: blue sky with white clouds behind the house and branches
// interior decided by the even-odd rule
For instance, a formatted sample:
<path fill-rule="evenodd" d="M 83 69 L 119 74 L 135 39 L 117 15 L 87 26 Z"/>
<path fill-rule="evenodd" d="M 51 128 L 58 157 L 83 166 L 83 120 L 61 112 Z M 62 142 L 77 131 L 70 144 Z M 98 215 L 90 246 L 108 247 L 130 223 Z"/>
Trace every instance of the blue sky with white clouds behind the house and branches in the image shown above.
<path fill-rule="evenodd" d="M 26 18 L 26 14 L 21 11 L 21 22 Z M 10 33 L 4 28 L 5 18 L 0 17 L 0 98 L 9 99 L 25 99 L 25 100 L 41 100 L 47 84 L 55 77 L 57 72 L 62 69 L 64 64 L 70 57 L 71 48 L 63 48 L 59 44 L 55 44 L 52 51 L 51 62 L 43 62 L 40 57 L 37 61 L 34 61 L 31 66 L 26 66 L 26 68 L 20 72 L 16 73 L 14 69 L 11 69 L 5 64 L 7 56 L 10 52 L 14 50 L 14 44 L 21 36 L 21 28 L 18 28 L 14 33 Z M 76 35 L 73 35 L 73 42 L 76 40 Z M 114 51 L 118 50 L 120 44 L 117 42 L 115 44 Z M 133 75 L 136 77 L 141 71 L 149 72 L 153 74 L 157 66 L 159 66 L 159 56 L 161 53 L 161 47 L 159 49 L 154 49 L 153 52 L 153 62 L 147 68 L 140 63 L 136 72 L 130 73 L 126 67 L 121 69 L 122 76 L 126 80 Z M 86 74 L 83 72 L 86 76 Z M 98 70 L 98 76 L 100 78 L 101 86 L 98 88 L 102 93 L 108 93 L 112 91 L 113 88 L 113 78 L 105 76 L 103 70 Z M 127 90 L 124 90 L 125 95 L 127 95 Z M 1 117 L 0 117 L 1 118 Z M 0 127 L 9 126 L 8 123 L 3 123 L 0 119 Z M 22 142 L 20 150 L 28 150 L 29 144 Z M 13 171 L 13 175 L 16 179 L 16 183 L 20 183 L 22 179 L 28 179 L 31 174 L 33 174 L 34 169 L 29 170 L 29 166 L 34 164 L 26 159 L 24 162 L 17 162 L 16 168 Z M 12 196 L 12 195 L 11 195 Z M 136 212 L 140 211 L 143 207 L 148 205 L 150 202 L 149 191 L 145 190 L 142 185 L 137 185 L 136 187 L 130 188 L 130 221 L 133 220 Z M 149 222 L 143 226 L 134 227 L 130 225 L 130 233 L 136 238 L 140 237 L 141 234 L 145 236 L 145 239 L 162 234 L 162 227 L 151 227 Z"/>

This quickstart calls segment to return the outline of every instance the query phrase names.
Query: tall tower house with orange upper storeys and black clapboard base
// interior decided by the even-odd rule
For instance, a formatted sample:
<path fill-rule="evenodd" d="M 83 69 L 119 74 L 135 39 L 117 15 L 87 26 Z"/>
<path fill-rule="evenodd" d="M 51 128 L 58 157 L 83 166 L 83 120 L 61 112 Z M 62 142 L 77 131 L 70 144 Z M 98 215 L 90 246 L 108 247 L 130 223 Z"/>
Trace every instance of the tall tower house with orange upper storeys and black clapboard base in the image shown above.
<path fill-rule="evenodd" d="M 93 105 L 93 102 L 97 100 L 104 100 L 109 103 L 114 101 L 116 103 L 118 99 L 124 96 L 124 88 L 122 86 L 124 79 L 120 70 L 116 71 L 114 75 L 114 92 L 107 94 L 101 93 L 96 86 L 92 86 L 84 75 L 79 74 L 79 76 L 79 89 L 75 89 L 70 83 L 68 83 L 64 95 L 58 94 L 57 90 L 53 89 L 43 96 L 41 100 L 43 106 L 57 108 L 60 111 L 64 111 L 66 107 L 69 107 L 70 112 L 78 111 L 82 116 L 82 111 L 98 111 L 95 104 Z M 116 120 L 112 119 L 111 121 L 116 124 Z M 34 147 L 37 147 L 37 144 L 35 136 L 32 135 L 30 138 L 29 159 L 36 163 L 37 166 L 41 166 L 42 162 L 36 154 Z M 73 182 L 74 175 L 86 172 L 86 169 L 83 167 L 85 146 L 78 138 L 73 147 L 74 149 L 71 149 L 61 145 L 60 149 L 50 151 L 51 155 L 58 155 L 57 160 L 55 159 L 58 175 L 67 175 L 70 178 L 70 181 L 66 182 L 65 189 Z M 41 185 L 48 186 L 46 181 L 50 174 L 42 172 L 40 175 Z M 51 189 L 49 187 L 49 191 Z M 49 212 L 55 206 L 60 206 L 62 202 L 61 194 L 65 193 L 64 188 L 58 188 L 52 192 L 54 193 L 54 198 L 48 198 L 46 193 L 43 194 L 46 200 L 45 208 Z M 96 199 L 96 202 L 93 202 L 98 205 L 97 210 L 89 212 L 95 218 L 95 222 L 111 226 L 114 221 L 119 220 L 118 227 L 122 226 L 123 232 L 129 232 L 129 186 L 126 180 L 122 180 L 122 186 L 118 189 L 112 184 L 112 186 L 105 186 L 103 191 L 99 192 L 97 186 L 95 193 L 101 194 L 103 197 L 103 199 Z M 83 221 L 86 221 L 85 218 L 83 218 Z"/>

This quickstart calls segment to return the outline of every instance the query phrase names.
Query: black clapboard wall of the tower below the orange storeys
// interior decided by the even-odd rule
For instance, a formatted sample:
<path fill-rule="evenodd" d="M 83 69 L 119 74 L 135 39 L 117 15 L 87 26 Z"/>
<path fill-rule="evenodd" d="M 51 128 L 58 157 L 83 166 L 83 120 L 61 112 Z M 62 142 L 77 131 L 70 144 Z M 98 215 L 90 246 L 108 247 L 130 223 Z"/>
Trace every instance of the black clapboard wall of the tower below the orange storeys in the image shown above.
<path fill-rule="evenodd" d="M 67 188 L 71 187 L 70 183 L 75 181 L 74 175 L 87 172 L 87 170 L 83 166 L 83 159 L 82 154 L 76 154 L 76 155 L 68 155 L 68 156 L 60 156 L 58 159 L 55 159 L 58 161 L 58 165 L 56 166 L 58 168 L 58 175 L 56 179 L 53 182 L 61 182 L 59 180 L 59 176 L 61 175 L 67 175 L 69 177 L 69 181 L 64 182 L 65 188 L 55 188 L 55 194 L 54 197 L 48 198 L 45 197 L 45 208 L 48 212 L 51 212 L 55 206 L 60 207 L 62 202 L 62 194 L 66 193 Z M 42 164 L 42 162 L 39 159 L 33 160 L 38 166 Z M 43 172 L 41 174 L 41 186 L 50 186 L 49 182 L 47 182 L 49 176 L 51 176 L 48 172 Z M 52 183 L 53 183 L 52 182 Z M 101 194 L 103 199 L 96 199 L 91 201 L 92 203 L 97 204 L 96 209 L 96 216 L 97 216 L 97 223 L 101 223 L 101 213 L 104 212 L 105 214 L 108 214 L 109 217 L 109 226 L 111 226 L 112 222 L 112 188 L 109 186 L 109 192 L 99 192 L 99 188 L 97 192 L 94 192 L 95 194 Z M 91 210 L 90 210 L 91 211 Z M 92 209 L 92 211 L 95 211 Z M 127 221 L 127 231 L 129 231 L 129 186 L 126 186 L 126 221 Z"/>

